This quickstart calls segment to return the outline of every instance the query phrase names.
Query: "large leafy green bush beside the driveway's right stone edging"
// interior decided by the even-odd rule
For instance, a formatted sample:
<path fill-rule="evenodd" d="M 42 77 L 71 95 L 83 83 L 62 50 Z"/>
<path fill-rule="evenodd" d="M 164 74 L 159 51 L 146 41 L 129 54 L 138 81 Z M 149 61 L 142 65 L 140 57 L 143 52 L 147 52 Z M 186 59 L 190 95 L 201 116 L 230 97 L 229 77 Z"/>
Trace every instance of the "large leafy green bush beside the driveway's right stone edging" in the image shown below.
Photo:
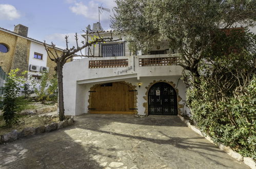
<path fill-rule="evenodd" d="M 222 142 L 243 156 L 255 159 L 256 77 L 243 92 L 230 96 L 226 91 L 225 99 L 218 90 L 202 77 L 199 88 L 188 90 L 193 120 L 215 142 Z"/>

